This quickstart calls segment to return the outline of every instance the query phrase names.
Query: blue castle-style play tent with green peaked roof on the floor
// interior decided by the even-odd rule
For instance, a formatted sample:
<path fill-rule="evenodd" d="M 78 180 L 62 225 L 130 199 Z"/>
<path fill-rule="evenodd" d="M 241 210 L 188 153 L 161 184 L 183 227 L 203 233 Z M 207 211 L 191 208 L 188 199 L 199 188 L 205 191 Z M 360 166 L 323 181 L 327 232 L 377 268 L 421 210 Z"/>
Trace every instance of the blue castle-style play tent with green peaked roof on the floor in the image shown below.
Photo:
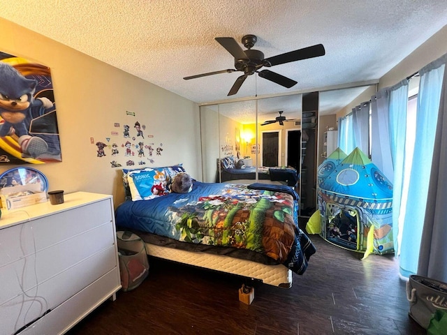
<path fill-rule="evenodd" d="M 369 253 L 393 253 L 390 181 L 358 148 L 339 165 L 323 161 L 318 178 L 323 170 L 330 172 L 325 176 L 321 173 L 318 181 L 321 237 L 337 246 L 365 253 L 365 257 Z"/>

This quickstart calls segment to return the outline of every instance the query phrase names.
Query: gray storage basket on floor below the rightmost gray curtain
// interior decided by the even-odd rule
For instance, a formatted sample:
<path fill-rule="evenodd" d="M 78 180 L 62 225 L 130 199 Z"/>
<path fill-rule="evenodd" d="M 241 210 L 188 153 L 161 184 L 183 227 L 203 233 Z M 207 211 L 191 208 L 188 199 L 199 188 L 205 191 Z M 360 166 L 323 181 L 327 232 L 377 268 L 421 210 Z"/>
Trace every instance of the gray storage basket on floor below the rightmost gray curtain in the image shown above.
<path fill-rule="evenodd" d="M 447 309 L 447 283 L 413 274 L 406 282 L 406 299 L 410 302 L 411 318 L 427 329 L 432 314 L 437 309 Z"/>

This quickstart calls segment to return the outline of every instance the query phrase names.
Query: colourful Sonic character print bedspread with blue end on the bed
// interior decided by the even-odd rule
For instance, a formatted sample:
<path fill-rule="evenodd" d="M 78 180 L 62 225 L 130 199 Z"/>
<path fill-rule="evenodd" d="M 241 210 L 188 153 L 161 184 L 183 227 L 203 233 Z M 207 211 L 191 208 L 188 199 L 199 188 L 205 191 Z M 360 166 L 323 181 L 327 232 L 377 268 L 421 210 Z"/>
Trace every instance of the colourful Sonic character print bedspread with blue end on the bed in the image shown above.
<path fill-rule="evenodd" d="M 126 201 L 117 208 L 117 227 L 256 251 L 303 274 L 316 249 L 298 228 L 296 193 L 287 186 L 253 185 L 196 181 L 190 193 Z"/>

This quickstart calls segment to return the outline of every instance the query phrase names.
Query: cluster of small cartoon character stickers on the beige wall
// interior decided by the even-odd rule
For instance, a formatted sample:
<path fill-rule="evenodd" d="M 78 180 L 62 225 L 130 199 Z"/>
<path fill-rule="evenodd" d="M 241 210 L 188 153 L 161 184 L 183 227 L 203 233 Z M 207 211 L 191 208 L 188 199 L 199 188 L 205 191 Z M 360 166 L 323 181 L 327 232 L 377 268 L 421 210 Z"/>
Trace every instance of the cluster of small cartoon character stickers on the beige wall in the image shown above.
<path fill-rule="evenodd" d="M 126 117 L 135 117 L 135 113 L 126 111 Z M 131 129 L 129 124 L 133 124 L 134 130 Z M 115 128 L 120 128 L 121 124 L 114 123 L 113 126 Z M 143 130 L 145 129 L 145 124 L 140 124 L 140 121 L 126 122 L 122 124 L 122 131 L 117 129 L 116 131 L 111 131 L 110 134 L 112 136 L 119 136 L 119 134 L 122 133 L 123 141 L 119 143 L 119 140 L 112 140 L 112 144 L 105 144 L 105 142 L 110 142 L 110 137 L 106 137 L 105 142 L 96 142 L 96 156 L 99 158 L 108 156 L 107 150 L 110 149 L 110 155 L 114 157 L 114 160 L 110 161 L 111 168 L 119 168 L 123 165 L 133 166 L 137 163 L 137 161 L 134 161 L 133 157 L 138 157 L 138 165 L 146 165 L 148 163 L 154 164 L 155 160 L 152 158 L 154 156 L 154 151 L 156 156 L 161 156 L 163 143 L 160 143 L 158 146 L 154 143 L 145 143 L 145 141 L 142 140 L 143 138 L 154 137 L 152 135 L 143 135 Z M 121 147 L 122 150 L 120 150 L 119 147 Z M 126 157 L 126 159 L 123 159 L 122 162 L 120 162 L 120 157 Z"/>

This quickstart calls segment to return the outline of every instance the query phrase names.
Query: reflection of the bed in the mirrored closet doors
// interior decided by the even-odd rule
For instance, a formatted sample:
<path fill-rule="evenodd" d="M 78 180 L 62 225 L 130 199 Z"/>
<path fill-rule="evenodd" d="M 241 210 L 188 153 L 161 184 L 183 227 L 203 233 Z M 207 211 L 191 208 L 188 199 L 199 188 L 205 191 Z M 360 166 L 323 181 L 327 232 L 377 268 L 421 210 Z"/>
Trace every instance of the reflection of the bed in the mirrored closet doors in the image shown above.
<path fill-rule="evenodd" d="M 239 161 L 235 156 L 218 158 L 216 182 L 235 182 L 242 179 L 255 180 L 256 168 L 254 166 L 244 165 L 242 165 L 244 168 L 240 168 L 241 165 L 238 165 Z M 279 181 L 281 184 L 295 186 L 298 183 L 298 172 L 294 168 L 261 166 L 258 167 L 258 180 Z"/>

